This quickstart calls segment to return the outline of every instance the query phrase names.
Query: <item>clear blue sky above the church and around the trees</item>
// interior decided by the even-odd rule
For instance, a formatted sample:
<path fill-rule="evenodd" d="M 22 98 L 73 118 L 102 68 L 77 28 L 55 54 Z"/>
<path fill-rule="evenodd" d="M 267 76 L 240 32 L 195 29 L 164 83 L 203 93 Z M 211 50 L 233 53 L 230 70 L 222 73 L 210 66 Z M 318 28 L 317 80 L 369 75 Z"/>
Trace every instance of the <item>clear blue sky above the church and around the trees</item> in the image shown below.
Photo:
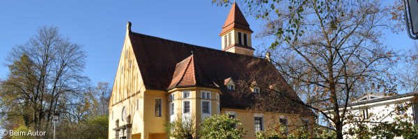
<path fill-rule="evenodd" d="M 220 49 L 218 35 L 230 8 L 212 5 L 210 0 L 0 1 L 0 63 L 6 63 L 8 51 L 36 34 L 39 26 L 54 25 L 72 42 L 84 45 L 88 63 L 82 74 L 92 84 L 113 85 L 128 21 L 137 33 Z M 260 31 L 260 20 L 247 16 L 247 21 L 255 33 Z M 388 32 L 383 40 L 394 49 L 410 49 L 414 43 L 405 32 Z M 263 42 L 270 44 L 253 39 L 252 45 Z M 0 65 L 0 78 L 7 74 L 8 68 Z"/>

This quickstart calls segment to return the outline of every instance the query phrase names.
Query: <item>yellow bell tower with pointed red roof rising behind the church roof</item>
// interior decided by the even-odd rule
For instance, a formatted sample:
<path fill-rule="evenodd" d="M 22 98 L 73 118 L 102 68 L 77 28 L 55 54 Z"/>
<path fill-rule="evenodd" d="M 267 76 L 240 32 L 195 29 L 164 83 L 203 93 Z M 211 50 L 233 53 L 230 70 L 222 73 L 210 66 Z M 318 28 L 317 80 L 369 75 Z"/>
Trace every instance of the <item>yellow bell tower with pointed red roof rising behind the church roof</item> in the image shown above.
<path fill-rule="evenodd" d="M 251 33 L 253 31 L 247 20 L 234 2 L 219 34 L 222 38 L 222 51 L 253 56 L 255 49 L 251 47 Z"/>

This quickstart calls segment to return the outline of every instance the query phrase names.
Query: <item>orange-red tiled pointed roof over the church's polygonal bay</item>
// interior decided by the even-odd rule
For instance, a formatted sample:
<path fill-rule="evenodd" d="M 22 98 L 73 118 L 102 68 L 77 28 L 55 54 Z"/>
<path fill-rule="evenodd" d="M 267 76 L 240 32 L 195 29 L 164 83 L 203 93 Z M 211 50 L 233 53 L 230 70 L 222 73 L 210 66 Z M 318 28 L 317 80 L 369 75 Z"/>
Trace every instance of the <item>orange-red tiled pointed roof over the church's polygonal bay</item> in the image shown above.
<path fill-rule="evenodd" d="M 219 85 L 206 75 L 199 63 L 195 60 L 193 54 L 180 63 L 177 63 L 173 79 L 168 89 L 192 85 L 210 88 L 219 87 Z"/>

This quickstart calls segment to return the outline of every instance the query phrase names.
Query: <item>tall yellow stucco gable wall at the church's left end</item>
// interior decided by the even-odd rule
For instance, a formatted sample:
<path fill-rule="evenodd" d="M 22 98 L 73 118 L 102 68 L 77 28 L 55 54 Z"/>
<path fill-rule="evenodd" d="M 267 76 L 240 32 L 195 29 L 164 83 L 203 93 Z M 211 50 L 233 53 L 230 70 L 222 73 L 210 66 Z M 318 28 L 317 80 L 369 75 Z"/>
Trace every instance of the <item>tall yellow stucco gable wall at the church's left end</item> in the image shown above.
<path fill-rule="evenodd" d="M 119 121 L 118 126 L 126 124 L 121 120 L 123 106 L 126 106 L 127 115 L 135 123 L 132 134 L 144 132 L 145 87 L 127 33 L 109 100 L 109 138 L 115 138 L 113 129 L 116 128 L 116 120 Z"/>

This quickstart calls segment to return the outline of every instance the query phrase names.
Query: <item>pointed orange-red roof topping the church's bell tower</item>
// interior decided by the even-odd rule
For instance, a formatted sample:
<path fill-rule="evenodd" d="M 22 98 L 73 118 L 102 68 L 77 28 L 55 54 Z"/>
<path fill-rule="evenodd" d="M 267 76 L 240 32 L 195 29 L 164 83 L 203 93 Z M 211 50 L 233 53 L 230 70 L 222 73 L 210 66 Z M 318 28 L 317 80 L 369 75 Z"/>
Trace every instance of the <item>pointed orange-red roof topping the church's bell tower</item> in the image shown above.
<path fill-rule="evenodd" d="M 249 24 L 245 19 L 244 15 L 242 15 L 240 8 L 238 8 L 237 3 L 233 3 L 232 8 L 229 11 L 228 17 L 226 18 L 226 22 L 224 26 L 222 26 L 222 31 L 221 33 L 219 33 L 219 35 L 222 35 L 227 31 L 230 31 L 232 28 L 238 28 L 243 31 L 249 31 L 250 33 L 253 33 L 253 31 L 251 31 L 251 28 L 249 28 Z"/>

